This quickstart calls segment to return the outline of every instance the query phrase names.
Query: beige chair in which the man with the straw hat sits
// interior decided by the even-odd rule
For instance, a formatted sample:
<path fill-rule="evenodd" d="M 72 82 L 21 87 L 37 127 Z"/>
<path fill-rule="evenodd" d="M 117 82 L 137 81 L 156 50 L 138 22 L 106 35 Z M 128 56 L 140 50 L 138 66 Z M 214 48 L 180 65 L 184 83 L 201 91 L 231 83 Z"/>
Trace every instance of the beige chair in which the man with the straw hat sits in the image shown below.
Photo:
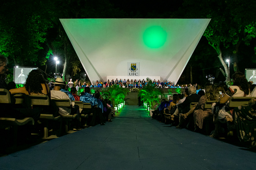
<path fill-rule="evenodd" d="M 71 107 L 69 99 L 52 99 L 55 102 L 57 107 Z M 65 132 L 67 133 L 70 130 L 70 121 L 74 118 L 77 118 L 78 114 L 62 114 L 62 118 L 65 120 Z"/>

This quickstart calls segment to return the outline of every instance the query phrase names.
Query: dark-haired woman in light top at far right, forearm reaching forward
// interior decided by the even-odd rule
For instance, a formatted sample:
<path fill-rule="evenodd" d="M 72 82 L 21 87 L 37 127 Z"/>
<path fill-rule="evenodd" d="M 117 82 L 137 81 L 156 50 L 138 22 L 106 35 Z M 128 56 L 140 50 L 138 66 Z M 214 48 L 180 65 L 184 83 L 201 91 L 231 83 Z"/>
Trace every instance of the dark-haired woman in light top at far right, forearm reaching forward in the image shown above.
<path fill-rule="evenodd" d="M 250 85 L 243 73 L 234 73 L 232 75 L 233 85 L 231 85 L 224 97 L 220 99 L 220 102 L 212 105 L 214 123 L 215 123 L 215 132 L 211 137 L 219 137 L 219 131 L 221 125 L 226 123 L 228 129 L 231 128 L 231 122 L 233 121 L 234 108 L 228 108 L 225 104 L 228 102 L 230 97 L 250 97 Z"/>

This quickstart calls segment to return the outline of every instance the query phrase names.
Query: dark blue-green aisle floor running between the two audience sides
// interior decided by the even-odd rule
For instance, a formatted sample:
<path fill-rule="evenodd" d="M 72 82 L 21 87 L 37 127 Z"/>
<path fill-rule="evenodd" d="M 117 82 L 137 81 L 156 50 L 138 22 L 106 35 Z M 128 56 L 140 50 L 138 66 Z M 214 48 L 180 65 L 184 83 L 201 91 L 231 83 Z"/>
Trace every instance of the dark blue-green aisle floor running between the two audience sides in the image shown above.
<path fill-rule="evenodd" d="M 125 106 L 97 125 L 5 157 L 0 170 L 255 170 L 256 153 Z"/>

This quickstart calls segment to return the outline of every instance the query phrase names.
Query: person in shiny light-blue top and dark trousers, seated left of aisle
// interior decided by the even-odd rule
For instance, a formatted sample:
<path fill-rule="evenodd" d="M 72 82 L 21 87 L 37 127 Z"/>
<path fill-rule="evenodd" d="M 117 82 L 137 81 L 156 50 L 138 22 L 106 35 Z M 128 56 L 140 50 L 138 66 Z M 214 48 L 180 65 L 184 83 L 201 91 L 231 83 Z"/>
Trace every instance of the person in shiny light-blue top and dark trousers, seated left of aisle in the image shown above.
<path fill-rule="evenodd" d="M 91 109 L 83 109 L 82 113 L 84 114 L 90 114 L 93 113 L 93 118 L 91 122 L 89 123 L 89 126 L 95 126 L 96 117 L 98 116 L 100 119 L 100 125 L 104 124 L 104 117 L 103 117 L 103 105 L 101 102 L 98 102 L 98 100 L 90 94 L 91 90 L 90 87 L 85 87 L 85 93 L 81 95 L 80 101 L 83 103 L 91 103 L 93 108 Z"/>

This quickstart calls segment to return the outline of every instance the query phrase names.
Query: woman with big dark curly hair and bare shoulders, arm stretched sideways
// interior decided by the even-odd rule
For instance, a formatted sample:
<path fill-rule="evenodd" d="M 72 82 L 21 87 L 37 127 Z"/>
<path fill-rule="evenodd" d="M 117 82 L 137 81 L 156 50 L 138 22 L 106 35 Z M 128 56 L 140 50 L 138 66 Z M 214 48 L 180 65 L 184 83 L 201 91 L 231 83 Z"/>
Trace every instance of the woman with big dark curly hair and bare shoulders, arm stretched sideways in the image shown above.
<path fill-rule="evenodd" d="M 24 93 L 30 94 L 44 94 L 51 98 L 50 87 L 46 84 L 40 70 L 32 70 L 26 80 L 25 86 L 10 90 L 11 94 Z"/>

